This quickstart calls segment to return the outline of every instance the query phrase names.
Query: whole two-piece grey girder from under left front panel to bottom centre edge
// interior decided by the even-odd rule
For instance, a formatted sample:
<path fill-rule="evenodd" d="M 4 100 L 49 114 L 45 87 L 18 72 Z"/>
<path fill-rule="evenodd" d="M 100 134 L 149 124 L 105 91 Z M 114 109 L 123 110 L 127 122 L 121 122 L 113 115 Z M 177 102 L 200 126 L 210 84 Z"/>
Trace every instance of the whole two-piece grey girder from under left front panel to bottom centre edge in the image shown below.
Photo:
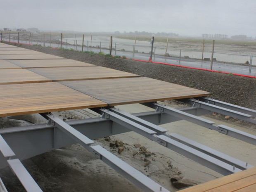
<path fill-rule="evenodd" d="M 157 184 L 146 175 L 140 173 L 140 171 L 137 171 L 132 166 L 126 164 L 124 161 L 122 161 L 100 145 L 90 146 L 94 143 L 92 140 L 90 140 L 88 137 L 86 137 L 76 129 L 72 128 L 69 124 L 65 123 L 61 119 L 51 115 L 47 116 L 55 122 L 57 128 L 64 131 L 64 133 L 66 133 L 69 137 L 85 147 L 85 149 L 88 149 L 89 152 L 95 154 L 99 159 L 114 168 L 128 180 L 132 181 L 135 185 L 140 187 L 142 190 L 149 192 L 169 192 L 164 187 Z"/>

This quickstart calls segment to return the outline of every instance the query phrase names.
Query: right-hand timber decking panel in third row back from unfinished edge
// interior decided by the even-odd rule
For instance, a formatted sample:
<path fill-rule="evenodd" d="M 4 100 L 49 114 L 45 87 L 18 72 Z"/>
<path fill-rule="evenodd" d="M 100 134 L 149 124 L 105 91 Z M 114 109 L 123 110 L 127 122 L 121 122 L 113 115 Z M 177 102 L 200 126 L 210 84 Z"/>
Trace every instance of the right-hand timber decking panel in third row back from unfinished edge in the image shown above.
<path fill-rule="evenodd" d="M 35 59 L 35 60 L 8 60 L 22 68 L 95 66 L 93 64 L 75 61 L 72 59 Z"/>

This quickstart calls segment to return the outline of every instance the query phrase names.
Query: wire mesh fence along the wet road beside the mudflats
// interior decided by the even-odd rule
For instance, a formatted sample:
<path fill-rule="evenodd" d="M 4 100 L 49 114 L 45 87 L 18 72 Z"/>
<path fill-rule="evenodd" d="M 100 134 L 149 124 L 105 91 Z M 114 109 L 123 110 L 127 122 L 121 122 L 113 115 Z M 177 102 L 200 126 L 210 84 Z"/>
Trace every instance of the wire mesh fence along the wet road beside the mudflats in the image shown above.
<path fill-rule="evenodd" d="M 56 47 L 63 49 L 72 49 L 77 51 L 88 52 L 103 52 L 108 54 L 110 52 L 110 39 L 107 36 L 83 36 L 82 35 L 62 35 L 60 33 L 1 33 L 1 40 L 25 43 L 30 45 L 38 45 L 44 47 Z M 136 59 L 142 59 L 149 57 L 151 52 L 151 45 L 148 42 L 141 43 L 137 41 L 137 44 L 125 43 L 125 40 L 115 39 L 112 45 L 112 55 L 126 56 Z M 191 47 L 193 45 L 191 44 Z M 171 46 L 164 47 L 163 45 L 154 44 L 153 58 L 156 59 L 173 59 L 172 62 L 178 62 L 181 60 L 190 62 L 193 60 L 210 62 L 211 61 L 211 47 L 205 46 L 204 52 L 198 50 L 184 50 L 176 49 Z M 184 60 L 185 59 L 185 60 Z M 225 63 L 226 66 L 232 67 L 232 64 L 248 66 L 249 73 L 251 73 L 251 67 L 256 66 L 256 55 L 236 55 L 229 53 L 213 53 L 214 63 Z M 206 66 L 206 65 L 205 65 Z M 239 70 L 239 66 L 238 66 Z"/>

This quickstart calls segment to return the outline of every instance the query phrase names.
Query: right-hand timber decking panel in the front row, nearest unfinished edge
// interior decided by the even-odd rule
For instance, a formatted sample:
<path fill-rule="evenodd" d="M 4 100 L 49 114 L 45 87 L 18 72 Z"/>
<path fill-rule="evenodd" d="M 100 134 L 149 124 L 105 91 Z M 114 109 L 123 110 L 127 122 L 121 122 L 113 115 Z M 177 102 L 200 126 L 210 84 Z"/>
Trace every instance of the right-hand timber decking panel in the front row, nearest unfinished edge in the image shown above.
<path fill-rule="evenodd" d="M 102 100 L 109 106 L 211 95 L 209 92 L 146 77 L 61 83 Z"/>

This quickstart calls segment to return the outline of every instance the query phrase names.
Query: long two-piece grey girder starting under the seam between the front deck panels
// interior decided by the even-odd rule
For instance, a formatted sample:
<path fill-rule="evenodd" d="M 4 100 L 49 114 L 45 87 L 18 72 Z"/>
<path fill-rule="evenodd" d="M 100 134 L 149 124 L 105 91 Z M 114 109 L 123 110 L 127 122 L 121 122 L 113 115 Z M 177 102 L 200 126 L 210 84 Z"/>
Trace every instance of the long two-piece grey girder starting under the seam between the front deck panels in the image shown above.
<path fill-rule="evenodd" d="M 123 116 L 120 116 L 118 114 L 115 114 L 114 112 L 108 110 L 108 109 L 100 109 L 103 113 L 103 117 L 110 119 L 111 121 L 114 121 L 116 123 L 121 124 L 122 126 L 126 126 L 130 130 L 135 131 L 136 133 L 139 133 L 140 135 L 143 135 L 144 137 L 147 137 L 150 140 L 153 140 L 165 147 L 170 148 L 171 150 L 178 152 L 182 154 L 183 156 L 186 156 L 196 162 L 199 162 L 200 164 L 207 166 L 214 171 L 217 171 L 218 173 L 221 173 L 223 175 L 229 175 L 232 173 L 236 173 L 238 171 L 242 171 L 239 168 L 234 168 L 233 166 L 224 163 L 216 158 L 213 158 L 207 154 L 204 154 L 202 152 L 197 151 L 196 149 L 193 149 L 192 147 L 188 147 L 182 143 L 179 143 L 166 135 L 155 135 L 155 133 L 148 133 L 148 128 L 141 126 L 138 123 L 135 123 L 133 121 L 130 121 L 129 119 L 124 118 Z M 143 133 L 144 132 L 144 133 Z M 168 138 L 163 140 L 163 138 Z M 177 145 L 177 146 L 176 146 Z"/>

